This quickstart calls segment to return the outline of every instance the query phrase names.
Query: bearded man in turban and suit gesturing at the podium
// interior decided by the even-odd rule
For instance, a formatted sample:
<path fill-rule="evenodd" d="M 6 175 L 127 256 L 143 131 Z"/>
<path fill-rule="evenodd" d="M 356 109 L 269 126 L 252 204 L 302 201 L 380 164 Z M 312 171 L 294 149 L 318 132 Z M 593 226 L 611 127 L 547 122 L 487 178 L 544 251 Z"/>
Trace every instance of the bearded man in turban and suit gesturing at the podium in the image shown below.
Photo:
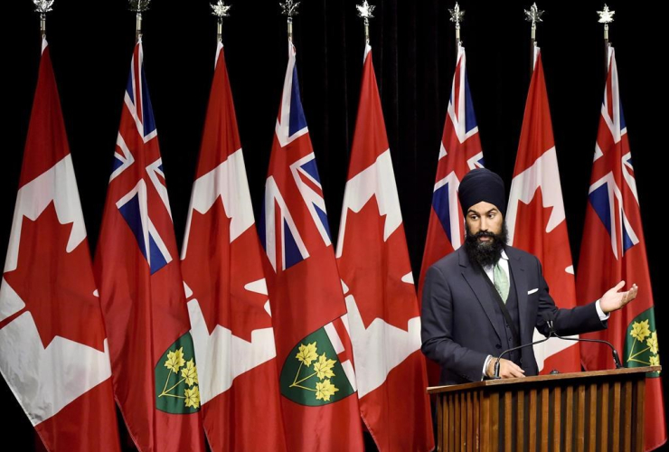
<path fill-rule="evenodd" d="M 429 268 L 423 287 L 421 349 L 441 365 L 440 384 L 492 377 L 493 356 L 532 343 L 534 327 L 548 335 L 547 318 L 557 334 L 589 333 L 606 328 L 609 313 L 636 297 L 636 285 L 619 292 L 625 286 L 621 281 L 587 306 L 559 309 L 539 259 L 506 244 L 502 178 L 487 169 L 472 170 L 458 196 L 465 244 Z M 500 360 L 502 378 L 538 373 L 532 347 Z"/>

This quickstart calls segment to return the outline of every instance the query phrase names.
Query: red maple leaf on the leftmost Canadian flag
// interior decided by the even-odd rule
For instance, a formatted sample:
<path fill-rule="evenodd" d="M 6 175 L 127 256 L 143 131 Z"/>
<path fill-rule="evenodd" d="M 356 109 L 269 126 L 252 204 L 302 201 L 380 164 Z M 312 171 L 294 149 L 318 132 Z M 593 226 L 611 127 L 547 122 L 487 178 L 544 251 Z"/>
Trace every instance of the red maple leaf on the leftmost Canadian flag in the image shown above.
<path fill-rule="evenodd" d="M 55 336 L 61 336 L 103 352 L 103 331 L 89 327 L 90 319 L 99 317 L 100 312 L 99 300 L 93 294 L 96 287 L 88 240 L 67 252 L 71 229 L 72 223 L 58 221 L 53 202 L 34 221 L 24 217 L 18 264 L 5 273 L 5 280 L 25 307 L 7 321 L 28 311 L 44 348 Z"/>

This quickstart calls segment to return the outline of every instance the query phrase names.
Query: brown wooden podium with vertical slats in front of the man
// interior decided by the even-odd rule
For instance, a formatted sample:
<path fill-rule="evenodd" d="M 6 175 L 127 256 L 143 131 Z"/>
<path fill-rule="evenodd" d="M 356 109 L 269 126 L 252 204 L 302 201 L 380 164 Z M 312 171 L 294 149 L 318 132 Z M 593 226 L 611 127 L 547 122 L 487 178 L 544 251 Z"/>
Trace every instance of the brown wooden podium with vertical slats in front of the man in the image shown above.
<path fill-rule="evenodd" d="M 440 451 L 642 451 L 645 372 L 560 373 L 428 388 Z"/>

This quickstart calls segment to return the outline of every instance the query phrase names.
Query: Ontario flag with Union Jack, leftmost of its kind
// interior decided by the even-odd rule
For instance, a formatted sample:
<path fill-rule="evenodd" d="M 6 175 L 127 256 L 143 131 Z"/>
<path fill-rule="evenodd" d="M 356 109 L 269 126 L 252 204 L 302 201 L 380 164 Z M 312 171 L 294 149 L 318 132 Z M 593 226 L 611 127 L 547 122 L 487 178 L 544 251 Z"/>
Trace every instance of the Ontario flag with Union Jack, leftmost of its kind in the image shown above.
<path fill-rule="evenodd" d="M 203 450 L 193 339 L 141 41 L 130 64 L 95 270 L 114 392 L 131 438 L 142 452 Z"/>

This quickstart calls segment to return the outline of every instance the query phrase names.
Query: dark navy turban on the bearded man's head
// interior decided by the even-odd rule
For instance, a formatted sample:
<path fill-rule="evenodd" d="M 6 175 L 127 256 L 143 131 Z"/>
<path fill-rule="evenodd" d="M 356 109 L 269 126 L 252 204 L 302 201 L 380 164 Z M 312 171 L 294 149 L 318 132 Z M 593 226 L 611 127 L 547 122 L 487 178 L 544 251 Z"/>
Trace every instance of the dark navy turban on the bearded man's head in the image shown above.
<path fill-rule="evenodd" d="M 485 168 L 476 168 L 462 178 L 457 196 L 460 198 L 462 212 L 478 202 L 490 202 L 495 205 L 502 216 L 506 216 L 506 202 L 504 197 L 504 182 L 502 178 Z"/>

